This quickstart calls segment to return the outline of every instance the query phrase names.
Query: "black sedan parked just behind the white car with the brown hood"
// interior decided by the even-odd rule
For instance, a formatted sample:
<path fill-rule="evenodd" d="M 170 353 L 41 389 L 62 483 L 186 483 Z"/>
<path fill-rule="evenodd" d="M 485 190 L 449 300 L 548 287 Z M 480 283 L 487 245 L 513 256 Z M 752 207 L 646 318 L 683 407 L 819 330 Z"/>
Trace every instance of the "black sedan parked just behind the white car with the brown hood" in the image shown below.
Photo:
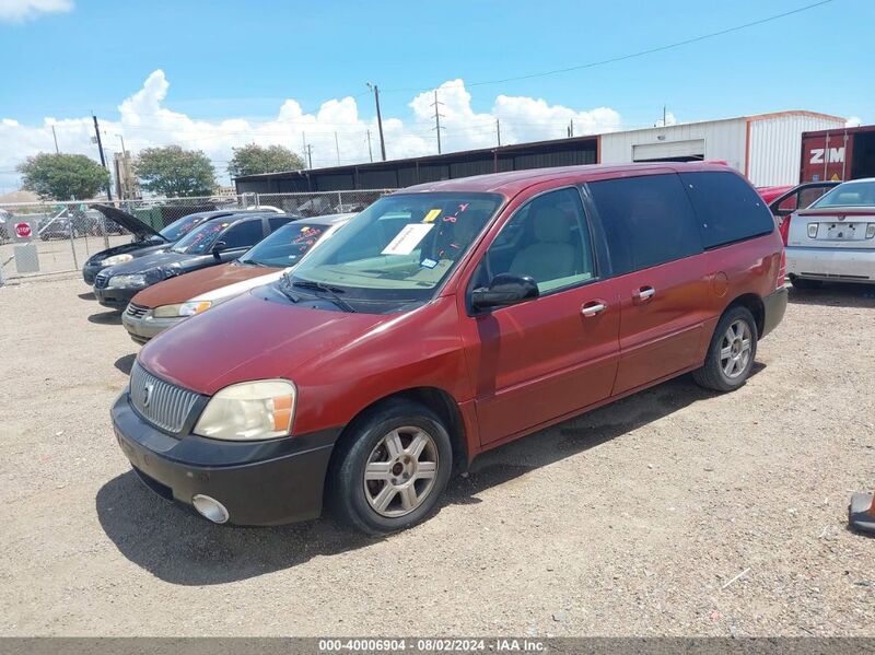
<path fill-rule="evenodd" d="M 298 218 L 242 212 L 208 219 L 166 250 L 103 269 L 94 278 L 94 296 L 105 307 L 120 312 L 147 286 L 233 261 L 268 234 Z"/>

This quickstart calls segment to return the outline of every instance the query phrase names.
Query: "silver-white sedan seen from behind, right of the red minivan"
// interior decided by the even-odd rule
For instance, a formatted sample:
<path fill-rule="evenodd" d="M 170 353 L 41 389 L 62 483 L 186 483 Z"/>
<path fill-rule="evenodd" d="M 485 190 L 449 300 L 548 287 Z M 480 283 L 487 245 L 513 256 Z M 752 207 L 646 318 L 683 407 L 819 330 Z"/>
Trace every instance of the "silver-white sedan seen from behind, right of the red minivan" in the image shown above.
<path fill-rule="evenodd" d="M 793 286 L 875 283 L 875 177 L 840 184 L 782 227 Z"/>

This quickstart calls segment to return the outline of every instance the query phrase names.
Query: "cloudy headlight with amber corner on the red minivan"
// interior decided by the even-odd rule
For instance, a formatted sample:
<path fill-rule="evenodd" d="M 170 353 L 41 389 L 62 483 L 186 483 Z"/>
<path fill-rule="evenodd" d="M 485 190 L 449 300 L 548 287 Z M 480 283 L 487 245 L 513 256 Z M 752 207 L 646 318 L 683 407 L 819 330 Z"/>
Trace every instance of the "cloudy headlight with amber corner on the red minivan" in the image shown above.
<path fill-rule="evenodd" d="M 231 385 L 210 398 L 195 434 L 229 441 L 285 436 L 292 429 L 296 395 L 287 379 Z"/>

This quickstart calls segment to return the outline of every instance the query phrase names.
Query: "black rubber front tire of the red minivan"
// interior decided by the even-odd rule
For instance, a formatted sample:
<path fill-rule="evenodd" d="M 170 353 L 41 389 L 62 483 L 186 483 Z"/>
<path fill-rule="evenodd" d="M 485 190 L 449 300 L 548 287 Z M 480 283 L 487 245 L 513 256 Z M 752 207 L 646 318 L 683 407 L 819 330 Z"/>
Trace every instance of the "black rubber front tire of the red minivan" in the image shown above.
<path fill-rule="evenodd" d="M 366 484 L 378 493 L 388 481 L 365 482 L 364 472 L 374 449 L 393 431 L 415 428 L 431 437 L 430 451 L 436 460 L 433 483 L 421 504 L 404 516 L 384 516 L 371 506 Z M 402 435 L 404 438 L 408 438 Z M 410 442 L 412 443 L 412 442 Z M 404 445 L 404 444 L 402 444 Z M 408 444 L 409 445 L 409 444 Z M 381 446 L 383 447 L 383 446 Z M 407 446 L 405 446 L 407 447 Z M 380 451 L 378 451 L 380 452 Z M 386 458 L 390 459 L 388 451 Z M 405 451 L 406 453 L 407 451 Z M 453 445 L 440 417 L 428 407 L 405 399 L 389 399 L 357 418 L 340 437 L 325 482 L 328 503 L 335 516 L 347 526 L 370 535 L 387 535 L 409 528 L 428 518 L 438 506 L 453 468 Z M 416 476 L 413 476 L 416 478 Z M 423 489 L 422 480 L 415 483 Z M 425 481 L 428 484 L 428 481 Z M 393 500 L 400 503 L 401 498 Z"/>

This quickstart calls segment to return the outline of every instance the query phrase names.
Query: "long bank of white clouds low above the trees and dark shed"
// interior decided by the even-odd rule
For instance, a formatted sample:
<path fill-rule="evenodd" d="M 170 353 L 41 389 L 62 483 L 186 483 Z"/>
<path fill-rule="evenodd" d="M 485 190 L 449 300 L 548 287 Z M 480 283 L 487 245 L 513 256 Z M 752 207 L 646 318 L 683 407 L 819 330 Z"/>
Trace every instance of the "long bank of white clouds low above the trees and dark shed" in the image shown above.
<path fill-rule="evenodd" d="M 101 120 L 104 149 L 110 153 L 119 151 L 120 138 L 124 138 L 127 150 L 135 153 L 170 143 L 202 150 L 213 160 L 224 184 L 230 182 L 225 165 L 231 149 L 252 142 L 278 143 L 302 153 L 305 138 L 312 145 L 314 167 L 332 166 L 337 164 L 338 145 L 341 164 L 368 162 L 366 132 L 370 130 L 373 157 L 380 159 L 376 120 L 362 118 L 352 97 L 330 100 L 312 113 L 305 113 L 295 100 L 289 98 L 273 118 L 265 121 L 234 117 L 200 120 L 171 109 L 166 105 L 168 89 L 164 71 L 152 72 L 142 87 L 118 106 L 118 120 Z M 575 136 L 620 127 L 620 115 L 608 107 L 578 110 L 524 96 L 499 95 L 489 112 L 478 113 L 471 107 L 471 95 L 462 80 L 444 82 L 438 90 L 438 97 L 443 103 L 440 110 L 444 152 L 494 145 L 495 119 L 501 122 L 502 144 L 565 137 L 572 120 Z M 384 115 L 388 159 L 436 153 L 433 102 L 433 92 L 420 93 L 408 105 L 411 115 Z M 21 125 L 11 117 L 2 118 L 0 142 L 4 148 L 0 149 L 0 191 L 18 187 L 14 168 L 26 156 L 54 151 L 52 125 L 61 152 L 98 156 L 96 145 L 91 142 L 94 126 L 90 116 L 46 117 L 42 125 Z"/>

